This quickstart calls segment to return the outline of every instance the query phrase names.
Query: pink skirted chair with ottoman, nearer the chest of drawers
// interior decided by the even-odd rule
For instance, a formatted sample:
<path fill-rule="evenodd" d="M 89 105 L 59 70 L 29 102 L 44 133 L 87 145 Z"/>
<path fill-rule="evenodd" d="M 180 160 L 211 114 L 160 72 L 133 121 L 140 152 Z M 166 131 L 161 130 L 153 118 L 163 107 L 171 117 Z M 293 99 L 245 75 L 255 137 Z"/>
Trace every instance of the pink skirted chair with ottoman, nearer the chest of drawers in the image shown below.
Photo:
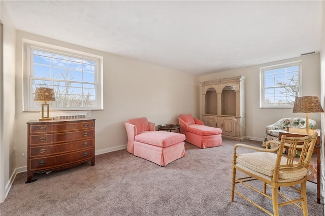
<path fill-rule="evenodd" d="M 145 117 L 129 119 L 124 125 L 129 153 L 160 166 L 185 157 L 184 134 L 155 131 L 155 124 Z"/>

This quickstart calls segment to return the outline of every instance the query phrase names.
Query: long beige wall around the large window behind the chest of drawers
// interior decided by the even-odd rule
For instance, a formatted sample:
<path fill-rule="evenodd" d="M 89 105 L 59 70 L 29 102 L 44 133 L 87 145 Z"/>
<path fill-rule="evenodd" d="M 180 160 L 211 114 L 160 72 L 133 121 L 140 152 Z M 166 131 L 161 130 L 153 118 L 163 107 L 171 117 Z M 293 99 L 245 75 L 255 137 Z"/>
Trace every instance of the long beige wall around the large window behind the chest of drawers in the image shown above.
<path fill-rule="evenodd" d="M 147 117 L 158 124 L 177 123 L 178 115 L 199 115 L 199 82 L 196 76 L 109 53 L 55 41 L 17 31 L 16 49 L 16 139 L 19 152 L 26 155 L 26 122 L 39 112 L 22 112 L 22 39 L 67 47 L 104 57 L 104 110 L 92 111 L 95 122 L 96 154 L 126 148 L 124 122 Z M 26 166 L 21 154 L 16 167 Z"/>

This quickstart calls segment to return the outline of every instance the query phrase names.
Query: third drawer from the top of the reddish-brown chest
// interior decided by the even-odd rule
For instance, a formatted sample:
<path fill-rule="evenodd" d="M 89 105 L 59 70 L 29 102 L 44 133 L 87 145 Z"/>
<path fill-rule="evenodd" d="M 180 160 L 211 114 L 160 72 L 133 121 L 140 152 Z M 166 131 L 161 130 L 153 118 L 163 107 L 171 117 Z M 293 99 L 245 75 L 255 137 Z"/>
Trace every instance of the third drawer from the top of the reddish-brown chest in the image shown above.
<path fill-rule="evenodd" d="M 91 148 L 94 146 L 93 139 L 86 139 L 77 142 L 68 142 L 58 145 L 46 145 L 38 147 L 30 147 L 29 157 L 43 157 L 55 154 L 62 154 L 72 151 Z"/>

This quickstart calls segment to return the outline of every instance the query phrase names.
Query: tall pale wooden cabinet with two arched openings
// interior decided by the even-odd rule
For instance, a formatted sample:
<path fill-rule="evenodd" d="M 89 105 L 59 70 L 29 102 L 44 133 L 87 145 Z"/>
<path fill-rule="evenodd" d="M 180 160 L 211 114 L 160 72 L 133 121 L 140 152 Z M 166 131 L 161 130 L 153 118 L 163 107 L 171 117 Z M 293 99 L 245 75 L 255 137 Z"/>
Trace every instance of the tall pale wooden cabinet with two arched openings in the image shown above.
<path fill-rule="evenodd" d="M 245 134 L 245 77 L 200 82 L 200 113 L 205 125 L 222 136 L 242 141 Z"/>

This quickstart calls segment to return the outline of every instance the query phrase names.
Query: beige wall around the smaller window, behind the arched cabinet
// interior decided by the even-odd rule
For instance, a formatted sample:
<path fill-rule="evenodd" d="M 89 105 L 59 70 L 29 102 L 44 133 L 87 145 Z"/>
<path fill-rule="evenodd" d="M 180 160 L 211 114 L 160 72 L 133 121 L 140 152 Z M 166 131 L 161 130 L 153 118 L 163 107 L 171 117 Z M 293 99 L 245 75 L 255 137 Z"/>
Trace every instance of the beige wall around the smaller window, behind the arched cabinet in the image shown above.
<path fill-rule="evenodd" d="M 319 53 L 282 61 L 254 65 L 221 73 L 203 75 L 200 82 L 235 76 L 245 76 L 245 112 L 246 136 L 254 140 L 263 140 L 265 127 L 285 117 L 305 117 L 306 114 L 293 113 L 292 109 L 261 109 L 259 108 L 259 68 L 268 65 L 280 64 L 290 61 L 302 60 L 302 96 L 320 96 L 320 63 Z M 309 114 L 309 118 L 317 122 L 316 128 L 320 129 L 320 114 Z"/>

